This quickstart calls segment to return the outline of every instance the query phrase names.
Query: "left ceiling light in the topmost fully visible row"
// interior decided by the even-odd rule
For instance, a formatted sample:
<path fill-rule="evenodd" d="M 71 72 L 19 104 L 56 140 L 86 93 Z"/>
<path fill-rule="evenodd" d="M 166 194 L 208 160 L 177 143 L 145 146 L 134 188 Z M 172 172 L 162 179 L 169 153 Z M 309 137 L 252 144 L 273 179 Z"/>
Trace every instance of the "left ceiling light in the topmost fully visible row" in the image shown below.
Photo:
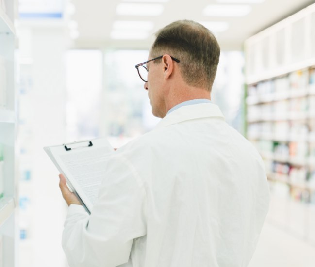
<path fill-rule="evenodd" d="M 162 14 L 164 6 L 162 4 L 129 4 L 120 3 L 117 5 L 118 15 L 131 16 L 159 16 Z"/>

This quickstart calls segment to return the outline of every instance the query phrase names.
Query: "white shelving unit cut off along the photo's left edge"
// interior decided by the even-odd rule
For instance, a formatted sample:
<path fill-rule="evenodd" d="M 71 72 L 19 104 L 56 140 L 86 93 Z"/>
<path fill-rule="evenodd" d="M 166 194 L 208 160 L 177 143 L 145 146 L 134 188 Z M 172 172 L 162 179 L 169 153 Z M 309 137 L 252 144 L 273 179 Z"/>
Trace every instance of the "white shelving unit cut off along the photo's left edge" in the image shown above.
<path fill-rule="evenodd" d="M 0 266 L 17 266 L 14 0 L 0 1 Z"/>

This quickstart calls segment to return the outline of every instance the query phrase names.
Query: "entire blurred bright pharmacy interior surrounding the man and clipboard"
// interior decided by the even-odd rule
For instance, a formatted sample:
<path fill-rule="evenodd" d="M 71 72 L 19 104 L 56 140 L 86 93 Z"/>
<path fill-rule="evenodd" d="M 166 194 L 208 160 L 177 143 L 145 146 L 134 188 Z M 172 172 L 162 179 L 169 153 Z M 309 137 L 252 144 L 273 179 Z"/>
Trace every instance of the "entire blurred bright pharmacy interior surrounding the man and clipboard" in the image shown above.
<path fill-rule="evenodd" d="M 43 147 L 153 129 L 134 65 L 178 19 L 216 35 L 212 101 L 265 161 L 272 199 L 249 267 L 315 267 L 314 0 L 0 0 L 0 267 L 68 267 Z"/>

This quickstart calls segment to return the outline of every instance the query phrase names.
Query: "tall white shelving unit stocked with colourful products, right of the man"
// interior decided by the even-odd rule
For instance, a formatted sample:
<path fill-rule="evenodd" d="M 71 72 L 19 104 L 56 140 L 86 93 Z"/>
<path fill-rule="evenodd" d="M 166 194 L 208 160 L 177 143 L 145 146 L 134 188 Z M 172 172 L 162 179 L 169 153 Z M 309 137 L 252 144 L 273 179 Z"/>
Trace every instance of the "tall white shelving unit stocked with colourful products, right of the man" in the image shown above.
<path fill-rule="evenodd" d="M 315 245 L 315 4 L 245 42 L 247 138 L 265 161 L 268 219 Z"/>

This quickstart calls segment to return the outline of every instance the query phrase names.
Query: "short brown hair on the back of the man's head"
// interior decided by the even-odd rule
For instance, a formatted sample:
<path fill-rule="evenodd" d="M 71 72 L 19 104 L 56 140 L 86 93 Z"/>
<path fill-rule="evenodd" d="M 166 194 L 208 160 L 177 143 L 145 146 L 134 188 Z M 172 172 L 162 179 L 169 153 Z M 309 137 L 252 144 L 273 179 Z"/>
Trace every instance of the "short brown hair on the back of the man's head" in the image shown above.
<path fill-rule="evenodd" d="M 155 36 L 152 57 L 169 54 L 179 59 L 184 81 L 211 91 L 220 57 L 220 47 L 211 31 L 198 22 L 178 20 L 157 31 Z"/>

